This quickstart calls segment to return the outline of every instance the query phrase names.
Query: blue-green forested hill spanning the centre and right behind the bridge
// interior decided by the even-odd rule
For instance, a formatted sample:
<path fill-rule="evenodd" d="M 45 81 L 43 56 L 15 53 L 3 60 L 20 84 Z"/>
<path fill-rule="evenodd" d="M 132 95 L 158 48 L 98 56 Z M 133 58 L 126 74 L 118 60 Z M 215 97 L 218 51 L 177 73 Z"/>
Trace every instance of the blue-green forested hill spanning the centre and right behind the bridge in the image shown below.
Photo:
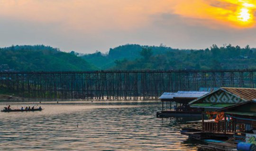
<path fill-rule="evenodd" d="M 212 45 L 204 50 L 178 50 L 160 45 L 128 44 L 82 56 L 100 69 L 169 70 L 169 69 L 244 69 L 256 68 L 256 52 L 248 45 Z"/>

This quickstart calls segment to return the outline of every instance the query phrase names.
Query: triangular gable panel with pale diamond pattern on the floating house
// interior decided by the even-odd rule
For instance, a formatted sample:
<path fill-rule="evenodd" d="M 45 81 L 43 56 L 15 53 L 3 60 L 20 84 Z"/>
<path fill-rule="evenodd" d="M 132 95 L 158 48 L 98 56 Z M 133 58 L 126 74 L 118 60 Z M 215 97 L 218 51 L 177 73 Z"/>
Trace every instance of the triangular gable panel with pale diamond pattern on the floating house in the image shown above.
<path fill-rule="evenodd" d="M 203 100 L 204 103 L 241 103 L 242 99 L 222 90 L 211 94 Z"/>

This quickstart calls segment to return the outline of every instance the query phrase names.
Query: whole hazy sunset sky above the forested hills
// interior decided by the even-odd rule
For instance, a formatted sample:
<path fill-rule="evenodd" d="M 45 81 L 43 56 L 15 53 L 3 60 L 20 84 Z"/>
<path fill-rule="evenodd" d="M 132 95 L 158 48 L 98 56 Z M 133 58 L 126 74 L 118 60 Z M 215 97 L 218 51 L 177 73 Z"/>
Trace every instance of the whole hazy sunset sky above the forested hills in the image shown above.
<path fill-rule="evenodd" d="M 136 43 L 256 47 L 255 0 L 0 0 L 0 47 L 91 53 Z"/>

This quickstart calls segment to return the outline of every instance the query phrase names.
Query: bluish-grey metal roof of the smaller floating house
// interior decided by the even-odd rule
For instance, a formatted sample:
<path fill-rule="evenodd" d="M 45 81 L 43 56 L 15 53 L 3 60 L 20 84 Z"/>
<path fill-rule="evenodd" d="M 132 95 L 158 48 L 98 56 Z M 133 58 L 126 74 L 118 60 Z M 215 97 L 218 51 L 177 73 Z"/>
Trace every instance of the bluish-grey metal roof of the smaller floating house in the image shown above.
<path fill-rule="evenodd" d="M 199 98 L 209 92 L 204 91 L 178 91 L 176 93 L 164 92 L 160 99 L 174 99 L 174 98 Z"/>

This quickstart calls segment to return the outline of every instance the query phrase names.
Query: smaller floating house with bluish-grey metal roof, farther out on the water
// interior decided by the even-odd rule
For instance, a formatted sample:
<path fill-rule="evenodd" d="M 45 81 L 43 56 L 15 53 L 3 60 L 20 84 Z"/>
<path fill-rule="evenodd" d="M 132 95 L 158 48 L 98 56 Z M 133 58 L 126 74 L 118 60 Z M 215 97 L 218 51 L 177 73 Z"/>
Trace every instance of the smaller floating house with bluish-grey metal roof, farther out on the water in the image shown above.
<path fill-rule="evenodd" d="M 213 90 L 201 88 L 201 90 Z M 200 117 L 200 109 L 192 109 L 188 103 L 209 91 L 178 91 L 165 92 L 160 96 L 162 101 L 162 111 L 156 113 L 156 117 Z"/>

